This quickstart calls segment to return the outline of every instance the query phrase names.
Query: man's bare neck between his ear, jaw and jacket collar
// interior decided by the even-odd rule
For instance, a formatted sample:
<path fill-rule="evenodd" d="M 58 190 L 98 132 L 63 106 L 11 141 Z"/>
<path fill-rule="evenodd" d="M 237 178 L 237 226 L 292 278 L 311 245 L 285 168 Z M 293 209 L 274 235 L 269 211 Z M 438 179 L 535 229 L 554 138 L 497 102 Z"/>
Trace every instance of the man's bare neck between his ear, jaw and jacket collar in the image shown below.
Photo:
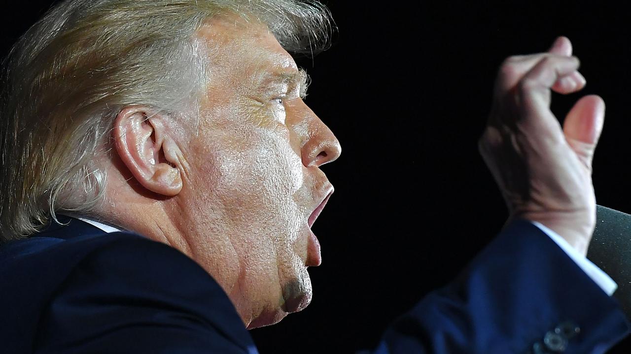
<path fill-rule="evenodd" d="M 186 184 L 185 184 L 186 185 Z M 178 249 L 196 261 L 228 294 L 247 325 L 254 316 L 241 294 L 243 275 L 230 238 L 236 227 L 225 217 L 220 200 L 209 205 L 195 188 L 174 197 L 151 193 L 121 166 L 107 169 L 105 200 L 90 216 Z M 208 196 L 206 196 L 208 197 Z"/>

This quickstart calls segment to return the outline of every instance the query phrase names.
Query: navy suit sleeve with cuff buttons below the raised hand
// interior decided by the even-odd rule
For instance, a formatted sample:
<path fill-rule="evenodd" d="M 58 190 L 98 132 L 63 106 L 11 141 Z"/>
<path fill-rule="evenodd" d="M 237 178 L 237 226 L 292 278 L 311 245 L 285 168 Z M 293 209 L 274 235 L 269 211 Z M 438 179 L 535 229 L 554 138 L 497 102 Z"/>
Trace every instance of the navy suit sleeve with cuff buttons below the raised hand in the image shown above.
<path fill-rule="evenodd" d="M 373 352 L 604 353 L 628 331 L 615 299 L 544 232 L 516 220 Z"/>

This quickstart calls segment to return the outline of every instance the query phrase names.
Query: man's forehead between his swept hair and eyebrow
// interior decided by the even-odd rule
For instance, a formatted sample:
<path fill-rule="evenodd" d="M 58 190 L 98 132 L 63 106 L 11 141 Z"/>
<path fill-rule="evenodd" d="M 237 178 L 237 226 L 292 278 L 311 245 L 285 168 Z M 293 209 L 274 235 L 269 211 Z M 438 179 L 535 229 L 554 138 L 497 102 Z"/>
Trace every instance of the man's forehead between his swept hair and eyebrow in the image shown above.
<path fill-rule="evenodd" d="M 197 34 L 206 44 L 211 67 L 238 70 L 252 79 L 260 76 L 261 80 L 268 74 L 297 71 L 292 56 L 268 27 L 257 21 L 239 16 L 211 18 Z"/>

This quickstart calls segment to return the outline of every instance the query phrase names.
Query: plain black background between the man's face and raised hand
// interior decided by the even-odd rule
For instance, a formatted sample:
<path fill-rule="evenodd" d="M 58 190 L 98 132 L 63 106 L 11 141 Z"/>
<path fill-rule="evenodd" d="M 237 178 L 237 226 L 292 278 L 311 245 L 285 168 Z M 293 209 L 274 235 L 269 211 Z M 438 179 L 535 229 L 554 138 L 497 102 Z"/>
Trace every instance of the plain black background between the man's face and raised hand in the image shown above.
<path fill-rule="evenodd" d="M 3 10 L 4 53 L 51 3 Z M 343 147 L 323 168 L 336 187 L 313 227 L 323 263 L 310 268 L 307 309 L 251 331 L 261 353 L 369 348 L 492 239 L 507 213 L 477 139 L 493 78 L 508 55 L 545 51 L 558 35 L 572 40 L 587 86 L 553 96 L 553 111 L 562 118 L 583 94 L 604 98 L 596 197 L 631 212 L 628 13 L 576 1 L 326 3 L 334 45 L 298 60 L 313 80 L 307 104 Z"/>

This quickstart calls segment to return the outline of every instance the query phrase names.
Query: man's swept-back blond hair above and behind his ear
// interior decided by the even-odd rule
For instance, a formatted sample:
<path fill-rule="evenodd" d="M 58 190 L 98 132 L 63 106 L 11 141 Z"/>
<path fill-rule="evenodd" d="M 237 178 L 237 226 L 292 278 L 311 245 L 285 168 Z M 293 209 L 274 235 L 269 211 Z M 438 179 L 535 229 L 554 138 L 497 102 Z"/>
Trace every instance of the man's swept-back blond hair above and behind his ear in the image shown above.
<path fill-rule="evenodd" d="M 295 54 L 324 49 L 333 28 L 324 6 L 297 0 L 68 0 L 35 23 L 2 76 L 0 242 L 102 200 L 105 173 L 93 159 L 116 115 L 194 104 L 206 54 L 193 35 L 229 14 L 265 23 Z"/>

